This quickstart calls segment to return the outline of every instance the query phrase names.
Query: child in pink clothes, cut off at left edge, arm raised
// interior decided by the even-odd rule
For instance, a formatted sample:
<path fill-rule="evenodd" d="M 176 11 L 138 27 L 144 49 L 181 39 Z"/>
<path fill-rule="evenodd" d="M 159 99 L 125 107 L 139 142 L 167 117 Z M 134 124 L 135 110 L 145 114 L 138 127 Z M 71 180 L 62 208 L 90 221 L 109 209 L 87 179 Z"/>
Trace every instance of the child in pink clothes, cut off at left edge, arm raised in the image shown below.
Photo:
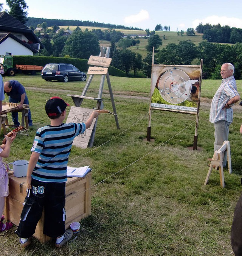
<path fill-rule="evenodd" d="M 5 197 L 9 194 L 8 189 L 8 168 L 3 163 L 3 157 L 8 157 L 10 153 L 10 145 L 12 141 L 16 138 L 16 133 L 13 133 L 11 137 L 6 136 L 6 144 L 2 144 L 0 146 L 0 216 L 2 216 L 0 220 L 0 232 L 5 231 L 7 229 L 12 228 L 11 222 L 3 223 L 4 215 L 3 210 L 5 206 Z"/>

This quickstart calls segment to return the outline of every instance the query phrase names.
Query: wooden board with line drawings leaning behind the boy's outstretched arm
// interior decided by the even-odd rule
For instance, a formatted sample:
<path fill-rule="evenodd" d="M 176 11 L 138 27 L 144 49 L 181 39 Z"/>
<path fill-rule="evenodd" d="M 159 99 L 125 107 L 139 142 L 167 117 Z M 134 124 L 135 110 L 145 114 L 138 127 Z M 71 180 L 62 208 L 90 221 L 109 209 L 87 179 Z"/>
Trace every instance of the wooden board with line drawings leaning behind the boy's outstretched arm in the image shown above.
<path fill-rule="evenodd" d="M 93 109 L 89 108 L 79 108 L 72 106 L 67 117 L 66 123 L 85 123 L 88 118 L 91 116 Z M 79 148 L 87 148 L 88 142 L 92 135 L 92 130 L 95 125 L 96 118 L 93 120 L 92 125 L 89 129 L 85 130 L 84 133 L 79 134 L 75 137 L 73 145 Z"/>

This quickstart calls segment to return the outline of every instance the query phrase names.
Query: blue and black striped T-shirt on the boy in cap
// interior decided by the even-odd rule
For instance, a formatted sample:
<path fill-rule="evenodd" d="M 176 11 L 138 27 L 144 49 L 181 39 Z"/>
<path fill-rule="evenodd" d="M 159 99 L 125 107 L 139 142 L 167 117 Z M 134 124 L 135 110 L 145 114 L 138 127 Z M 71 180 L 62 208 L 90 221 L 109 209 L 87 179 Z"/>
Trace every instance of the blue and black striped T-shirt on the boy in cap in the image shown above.
<path fill-rule="evenodd" d="M 67 181 L 67 163 L 73 140 L 85 129 L 85 123 L 62 123 L 39 128 L 31 148 L 31 151 L 40 153 L 32 178 L 44 182 Z"/>

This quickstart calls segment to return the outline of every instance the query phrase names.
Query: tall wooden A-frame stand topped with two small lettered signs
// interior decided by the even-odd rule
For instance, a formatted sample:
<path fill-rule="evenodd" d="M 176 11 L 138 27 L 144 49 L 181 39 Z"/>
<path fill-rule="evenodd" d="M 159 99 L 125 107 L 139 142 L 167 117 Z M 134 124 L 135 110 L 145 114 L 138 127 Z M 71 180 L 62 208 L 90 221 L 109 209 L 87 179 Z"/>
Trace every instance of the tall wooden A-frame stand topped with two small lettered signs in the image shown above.
<path fill-rule="evenodd" d="M 106 49 L 106 52 L 105 52 L 105 49 Z M 114 103 L 114 98 L 113 98 L 113 92 L 112 92 L 112 87 L 111 87 L 111 82 L 110 82 L 110 77 L 109 77 L 109 71 L 108 71 L 108 67 L 110 66 L 110 63 L 112 61 L 112 59 L 109 58 L 110 47 L 100 47 L 100 51 L 101 52 L 100 52 L 99 56 L 90 56 L 90 58 L 88 60 L 88 64 L 89 65 L 94 65 L 94 67 L 89 67 L 89 69 L 88 69 L 87 73 L 90 74 L 90 76 L 88 78 L 88 81 L 87 81 L 87 83 L 84 87 L 84 90 L 83 90 L 82 94 L 81 95 L 68 94 L 67 96 L 71 96 L 71 98 L 72 98 L 76 107 L 80 107 L 83 100 L 88 99 L 88 100 L 96 100 L 97 101 L 96 106 L 95 106 L 96 109 L 103 109 L 104 105 L 103 105 L 103 102 L 102 102 L 103 101 L 102 91 L 103 91 L 103 86 L 104 86 L 105 77 L 106 77 L 107 78 L 107 84 L 108 84 L 108 87 L 109 87 L 110 99 L 111 99 L 111 102 L 112 102 L 113 113 L 115 114 L 114 118 L 115 118 L 115 122 L 116 122 L 116 127 L 117 127 L 117 129 L 119 129 L 118 116 L 117 116 L 117 113 L 116 113 L 116 108 L 115 108 L 115 103 Z M 88 87 L 90 86 L 90 83 L 92 82 L 92 79 L 93 79 L 94 75 L 101 75 L 101 82 L 100 82 L 100 86 L 99 86 L 98 97 L 95 97 L 95 98 L 94 97 L 87 97 L 85 95 L 87 93 Z M 71 108 L 75 108 L 75 107 L 71 107 Z M 76 110 L 77 109 L 75 109 L 75 111 Z M 88 109 L 80 108 L 80 111 L 84 112 L 84 116 L 85 116 L 85 113 L 88 112 L 87 110 Z M 73 119 L 73 117 L 72 117 L 72 119 Z M 85 143 L 85 145 L 84 144 L 80 145 L 79 147 L 87 148 L 87 145 L 89 147 L 93 146 L 94 137 L 95 137 L 95 133 L 96 133 L 97 121 L 98 121 L 98 117 L 96 118 L 96 120 L 94 120 L 95 123 L 90 127 L 90 129 L 92 131 L 91 131 L 90 137 L 88 136 L 87 143 Z M 78 146 L 78 143 L 74 143 L 73 145 Z"/>

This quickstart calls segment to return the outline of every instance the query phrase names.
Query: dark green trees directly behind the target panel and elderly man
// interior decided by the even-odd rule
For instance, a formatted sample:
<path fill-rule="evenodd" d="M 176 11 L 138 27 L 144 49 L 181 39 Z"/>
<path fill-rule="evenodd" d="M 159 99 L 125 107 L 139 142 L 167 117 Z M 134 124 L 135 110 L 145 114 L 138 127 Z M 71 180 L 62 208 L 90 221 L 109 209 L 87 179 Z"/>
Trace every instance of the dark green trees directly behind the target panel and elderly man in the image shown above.
<path fill-rule="evenodd" d="M 232 63 L 234 77 L 242 79 L 242 43 L 230 46 L 203 40 L 196 46 L 193 42 L 180 41 L 168 44 L 155 55 L 157 64 L 166 65 L 200 65 L 200 59 L 203 59 L 203 79 L 220 79 L 220 67 L 225 62 Z"/>

